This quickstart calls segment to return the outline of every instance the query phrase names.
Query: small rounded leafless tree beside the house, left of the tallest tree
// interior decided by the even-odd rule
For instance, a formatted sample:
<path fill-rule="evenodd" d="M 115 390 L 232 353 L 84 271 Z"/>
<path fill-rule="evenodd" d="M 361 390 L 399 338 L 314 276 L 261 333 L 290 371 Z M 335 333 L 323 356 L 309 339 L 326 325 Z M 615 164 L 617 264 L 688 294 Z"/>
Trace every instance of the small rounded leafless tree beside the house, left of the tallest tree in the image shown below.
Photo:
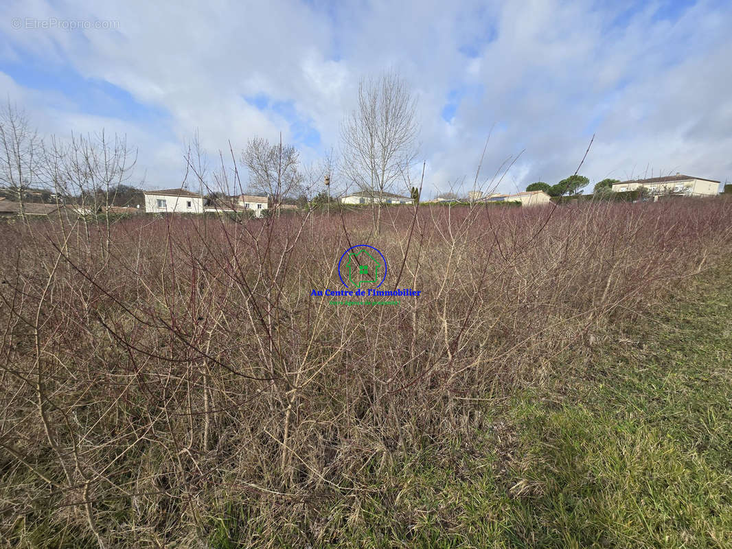
<path fill-rule="evenodd" d="M 300 157 L 291 145 L 272 144 L 264 138 L 250 139 L 242 154 L 249 170 L 250 188 L 272 197 L 275 208 L 283 197 L 302 192 L 303 177 L 300 173 Z"/>

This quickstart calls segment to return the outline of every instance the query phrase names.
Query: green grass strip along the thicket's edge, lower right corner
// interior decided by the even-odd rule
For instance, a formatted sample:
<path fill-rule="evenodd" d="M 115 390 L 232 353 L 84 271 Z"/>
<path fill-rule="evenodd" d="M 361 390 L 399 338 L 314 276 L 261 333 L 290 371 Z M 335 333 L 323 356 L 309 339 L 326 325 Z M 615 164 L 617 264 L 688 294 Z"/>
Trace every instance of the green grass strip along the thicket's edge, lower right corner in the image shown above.
<path fill-rule="evenodd" d="M 731 279 L 690 282 L 488 410 L 490 429 L 365 472 L 370 491 L 290 517 L 275 545 L 732 547 Z"/>

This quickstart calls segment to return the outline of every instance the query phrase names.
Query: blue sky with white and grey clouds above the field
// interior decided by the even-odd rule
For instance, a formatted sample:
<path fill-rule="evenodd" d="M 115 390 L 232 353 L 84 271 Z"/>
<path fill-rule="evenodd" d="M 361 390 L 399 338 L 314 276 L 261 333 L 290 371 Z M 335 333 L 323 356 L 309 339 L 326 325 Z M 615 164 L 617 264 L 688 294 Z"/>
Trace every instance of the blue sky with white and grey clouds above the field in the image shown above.
<path fill-rule="evenodd" d="M 723 183 L 731 28 L 732 2 L 705 0 L 4 0 L 0 94 L 41 135 L 125 135 L 148 189 L 180 186 L 196 134 L 214 158 L 280 133 L 305 164 L 337 152 L 386 70 L 417 97 L 423 195 L 471 188 L 484 147 L 479 185 L 554 184 L 592 135 L 591 183 Z"/>

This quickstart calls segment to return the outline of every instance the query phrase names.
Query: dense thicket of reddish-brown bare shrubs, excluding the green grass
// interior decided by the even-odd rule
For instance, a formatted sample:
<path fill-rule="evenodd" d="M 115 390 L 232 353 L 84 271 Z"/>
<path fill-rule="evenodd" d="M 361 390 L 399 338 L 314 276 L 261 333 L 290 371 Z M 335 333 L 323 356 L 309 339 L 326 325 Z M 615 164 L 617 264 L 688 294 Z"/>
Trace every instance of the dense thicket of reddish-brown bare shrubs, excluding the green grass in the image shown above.
<path fill-rule="evenodd" d="M 108 247 L 78 220 L 0 225 L 5 539 L 190 546 L 225 520 L 314 545 L 392 497 L 392 464 L 488 429 L 487 395 L 732 248 L 722 199 L 386 208 L 378 239 L 313 215 L 137 218 Z M 314 298 L 356 243 L 419 298 Z"/>

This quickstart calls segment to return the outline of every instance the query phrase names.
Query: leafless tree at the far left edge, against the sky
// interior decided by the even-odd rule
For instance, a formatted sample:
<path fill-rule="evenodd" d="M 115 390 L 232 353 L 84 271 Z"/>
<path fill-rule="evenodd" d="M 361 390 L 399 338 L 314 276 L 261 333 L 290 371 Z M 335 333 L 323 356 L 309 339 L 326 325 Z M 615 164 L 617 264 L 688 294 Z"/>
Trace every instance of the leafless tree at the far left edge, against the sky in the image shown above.
<path fill-rule="evenodd" d="M 39 145 L 37 131 L 31 130 L 26 112 L 9 100 L 0 111 L 0 183 L 16 193 L 23 220 L 26 191 L 37 183 L 39 175 Z"/>

